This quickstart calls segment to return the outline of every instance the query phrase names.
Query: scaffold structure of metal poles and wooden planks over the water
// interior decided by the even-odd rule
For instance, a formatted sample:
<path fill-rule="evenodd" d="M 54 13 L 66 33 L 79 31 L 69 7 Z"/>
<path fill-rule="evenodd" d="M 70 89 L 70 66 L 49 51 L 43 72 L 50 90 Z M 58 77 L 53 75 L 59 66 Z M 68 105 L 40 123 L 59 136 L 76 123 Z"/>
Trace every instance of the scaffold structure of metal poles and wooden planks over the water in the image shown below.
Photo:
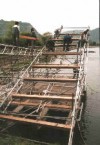
<path fill-rule="evenodd" d="M 84 107 L 89 48 L 88 40 L 83 46 L 78 42 L 87 29 L 63 28 L 59 38 L 52 38 L 55 51 L 48 51 L 46 45 L 30 49 L 0 44 L 1 132 L 28 124 L 40 142 L 47 142 L 52 130 L 49 143 L 56 143 L 60 132 L 65 137 L 61 145 L 74 145 L 74 128 Z M 66 33 L 72 36 L 69 51 L 63 51 Z M 45 137 L 39 138 L 36 131 Z"/>

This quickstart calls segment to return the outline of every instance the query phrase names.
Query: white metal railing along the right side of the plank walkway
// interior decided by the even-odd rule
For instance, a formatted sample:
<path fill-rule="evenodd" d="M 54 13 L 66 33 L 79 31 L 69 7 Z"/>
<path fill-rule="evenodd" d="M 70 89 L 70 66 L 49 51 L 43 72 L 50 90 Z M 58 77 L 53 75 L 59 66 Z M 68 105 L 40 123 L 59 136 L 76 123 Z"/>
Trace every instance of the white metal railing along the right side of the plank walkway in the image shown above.
<path fill-rule="evenodd" d="M 86 56 L 85 56 L 84 48 L 83 48 L 81 61 L 80 61 L 80 69 L 79 69 L 79 77 L 78 77 L 77 89 L 76 89 L 76 95 L 75 95 L 75 102 L 74 102 L 74 107 L 73 107 L 73 112 L 72 112 L 72 123 L 71 123 L 68 145 L 72 145 L 72 142 L 73 142 L 74 127 L 77 120 L 77 109 L 79 107 L 79 103 L 80 103 L 80 99 L 81 99 L 81 95 L 83 91 L 83 86 L 86 85 L 85 82 L 83 82 L 82 80 L 84 79 L 83 77 L 85 77 L 84 76 L 85 61 L 86 61 Z M 82 110 L 81 110 L 81 113 L 82 113 Z"/>

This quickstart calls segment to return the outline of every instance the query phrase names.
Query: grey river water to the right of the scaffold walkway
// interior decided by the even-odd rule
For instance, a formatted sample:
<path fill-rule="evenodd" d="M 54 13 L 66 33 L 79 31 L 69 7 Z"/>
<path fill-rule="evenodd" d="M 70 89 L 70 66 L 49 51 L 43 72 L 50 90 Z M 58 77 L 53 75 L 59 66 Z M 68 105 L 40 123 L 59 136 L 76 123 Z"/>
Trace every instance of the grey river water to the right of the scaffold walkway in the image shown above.
<path fill-rule="evenodd" d="M 87 96 L 75 145 L 100 145 L 100 50 L 88 52 Z"/>

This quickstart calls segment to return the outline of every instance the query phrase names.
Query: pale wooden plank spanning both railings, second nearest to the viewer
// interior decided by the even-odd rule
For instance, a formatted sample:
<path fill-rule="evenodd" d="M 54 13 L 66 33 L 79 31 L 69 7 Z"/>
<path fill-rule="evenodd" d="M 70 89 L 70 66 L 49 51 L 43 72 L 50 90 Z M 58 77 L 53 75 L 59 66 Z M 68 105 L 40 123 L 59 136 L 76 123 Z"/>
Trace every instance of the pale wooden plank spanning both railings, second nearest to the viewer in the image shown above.
<path fill-rule="evenodd" d="M 70 96 L 44 96 L 44 95 L 27 95 L 27 94 L 12 94 L 12 98 L 25 98 L 25 99 L 48 99 L 48 100 L 72 100 Z"/>

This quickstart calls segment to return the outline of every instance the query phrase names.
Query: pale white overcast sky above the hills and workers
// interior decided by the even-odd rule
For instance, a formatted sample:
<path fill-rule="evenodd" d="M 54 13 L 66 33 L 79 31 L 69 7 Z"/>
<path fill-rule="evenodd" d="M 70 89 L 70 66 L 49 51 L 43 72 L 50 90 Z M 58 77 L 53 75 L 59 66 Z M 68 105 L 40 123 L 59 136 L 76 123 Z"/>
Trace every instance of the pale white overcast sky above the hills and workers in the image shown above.
<path fill-rule="evenodd" d="M 0 0 L 0 19 L 29 22 L 41 34 L 64 27 L 99 27 L 99 0 Z"/>

